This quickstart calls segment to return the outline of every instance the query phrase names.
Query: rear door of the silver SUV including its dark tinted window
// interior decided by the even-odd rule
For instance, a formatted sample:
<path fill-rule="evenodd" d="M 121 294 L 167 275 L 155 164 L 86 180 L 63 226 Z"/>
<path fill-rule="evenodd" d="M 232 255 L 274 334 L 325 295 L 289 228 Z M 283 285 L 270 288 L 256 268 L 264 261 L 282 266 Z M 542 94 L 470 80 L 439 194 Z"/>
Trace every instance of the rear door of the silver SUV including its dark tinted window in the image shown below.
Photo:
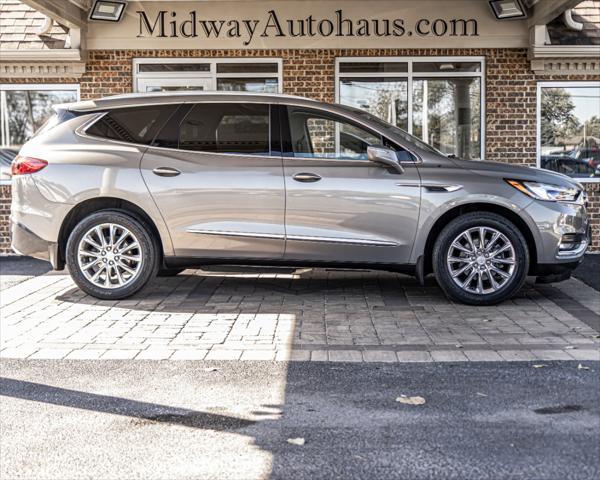
<path fill-rule="evenodd" d="M 281 259 L 282 159 L 258 103 L 182 106 L 142 158 L 176 256 Z M 278 137 L 278 134 L 277 134 Z"/>

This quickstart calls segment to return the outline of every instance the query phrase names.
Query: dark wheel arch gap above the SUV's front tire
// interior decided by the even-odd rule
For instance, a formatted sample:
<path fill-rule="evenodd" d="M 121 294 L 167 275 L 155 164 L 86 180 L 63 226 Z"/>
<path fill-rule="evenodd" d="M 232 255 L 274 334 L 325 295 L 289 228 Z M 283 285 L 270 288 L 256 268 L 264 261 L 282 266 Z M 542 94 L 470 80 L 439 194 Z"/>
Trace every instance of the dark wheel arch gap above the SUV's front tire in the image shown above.
<path fill-rule="evenodd" d="M 537 267 L 537 246 L 533 232 L 527 225 L 527 222 L 513 210 L 506 208 L 502 205 L 493 203 L 476 202 L 467 203 L 464 205 L 458 205 L 450 210 L 444 212 L 432 225 L 429 233 L 427 234 L 427 241 L 425 242 L 425 248 L 423 250 L 423 271 L 427 275 L 433 271 L 432 255 L 433 247 L 436 239 L 443 228 L 455 218 L 460 217 L 466 213 L 472 212 L 490 212 L 500 215 L 510 222 L 512 222 L 521 232 L 525 241 L 527 242 L 527 248 L 529 250 L 530 264 L 529 272 L 533 272 Z"/>

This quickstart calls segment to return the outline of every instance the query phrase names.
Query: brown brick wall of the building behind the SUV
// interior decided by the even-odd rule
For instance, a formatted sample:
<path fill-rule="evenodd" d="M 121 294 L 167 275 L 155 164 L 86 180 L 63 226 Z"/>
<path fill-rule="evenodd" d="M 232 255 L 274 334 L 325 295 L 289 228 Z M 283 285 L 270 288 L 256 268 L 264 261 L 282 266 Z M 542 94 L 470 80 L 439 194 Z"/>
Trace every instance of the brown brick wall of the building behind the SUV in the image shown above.
<path fill-rule="evenodd" d="M 136 57 L 278 57 L 283 59 L 284 93 L 333 102 L 336 57 L 469 55 L 486 58 L 487 160 L 535 165 L 538 81 L 600 79 L 592 74 L 536 75 L 530 68 L 525 49 L 110 50 L 89 52 L 87 71 L 81 79 L 53 79 L 52 83 L 79 83 L 81 98 L 88 99 L 131 92 L 133 58 Z M 0 83 L 27 82 L 43 83 L 44 80 L 0 79 Z M 600 251 L 600 185 L 587 184 L 586 189 L 590 195 L 593 248 Z M 0 239 L 0 249 L 5 244 L 6 240 L 2 243 Z"/>

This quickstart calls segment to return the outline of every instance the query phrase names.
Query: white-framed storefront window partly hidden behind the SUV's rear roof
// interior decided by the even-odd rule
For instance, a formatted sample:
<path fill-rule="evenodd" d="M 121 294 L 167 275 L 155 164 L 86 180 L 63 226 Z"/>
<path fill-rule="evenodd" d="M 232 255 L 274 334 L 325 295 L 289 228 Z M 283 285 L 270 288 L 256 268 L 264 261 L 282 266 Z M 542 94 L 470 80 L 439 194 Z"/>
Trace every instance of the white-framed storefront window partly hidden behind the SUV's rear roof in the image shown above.
<path fill-rule="evenodd" d="M 280 93 L 280 59 L 162 59 L 134 60 L 137 92 L 225 90 Z"/>

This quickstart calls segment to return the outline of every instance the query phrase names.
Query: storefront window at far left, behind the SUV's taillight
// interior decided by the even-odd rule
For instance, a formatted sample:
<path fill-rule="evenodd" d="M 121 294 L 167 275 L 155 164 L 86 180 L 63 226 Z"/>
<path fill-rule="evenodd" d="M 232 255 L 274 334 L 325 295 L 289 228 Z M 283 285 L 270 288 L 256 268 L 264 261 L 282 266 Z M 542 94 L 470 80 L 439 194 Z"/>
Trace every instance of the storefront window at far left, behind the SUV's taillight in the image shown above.
<path fill-rule="evenodd" d="M 77 101 L 77 85 L 6 85 L 0 87 L 2 148 L 18 149 L 52 115 L 52 106 Z"/>

